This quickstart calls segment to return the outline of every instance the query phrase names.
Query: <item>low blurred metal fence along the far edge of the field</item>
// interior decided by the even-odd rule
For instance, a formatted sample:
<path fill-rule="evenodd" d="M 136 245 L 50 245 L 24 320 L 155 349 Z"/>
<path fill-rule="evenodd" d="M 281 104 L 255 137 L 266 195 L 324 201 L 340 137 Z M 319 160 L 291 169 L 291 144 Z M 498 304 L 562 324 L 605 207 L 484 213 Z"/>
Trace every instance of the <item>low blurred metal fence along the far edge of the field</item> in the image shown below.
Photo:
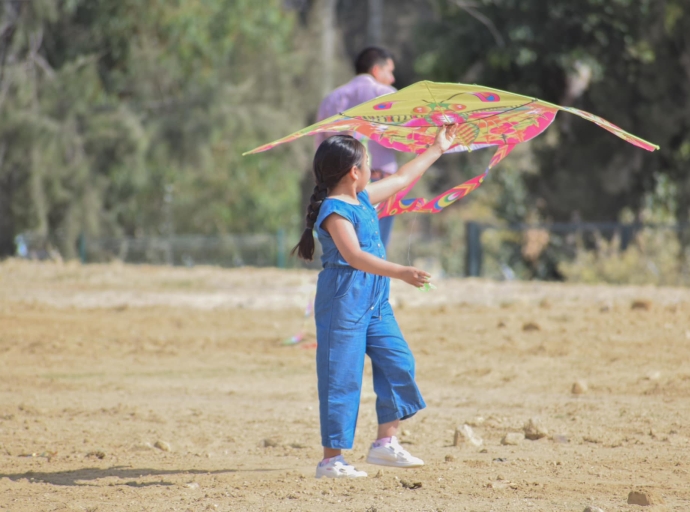
<path fill-rule="evenodd" d="M 690 241 L 687 224 L 592 222 L 499 226 L 466 222 L 453 235 L 434 234 L 426 229 L 406 232 L 406 226 L 400 225 L 388 248 L 388 259 L 427 269 L 432 267 L 432 272 L 448 276 L 558 279 L 559 262 L 573 260 L 578 251 L 593 250 L 597 238 L 615 239 L 616 250 L 624 252 L 645 230 L 666 232 L 679 240 L 684 238 L 686 246 Z M 22 235 L 18 240 L 21 242 L 18 242 L 18 253 L 23 257 L 60 257 L 54 249 L 60 245 L 55 239 Z M 84 263 L 119 260 L 133 264 L 187 267 L 319 268 L 318 243 L 312 263 L 289 257 L 289 250 L 296 240 L 297 235 L 286 235 L 283 230 L 275 234 L 222 236 L 80 237 L 76 252 Z M 650 261 L 650 265 L 654 262 Z M 529 272 L 524 271 L 526 266 Z"/>

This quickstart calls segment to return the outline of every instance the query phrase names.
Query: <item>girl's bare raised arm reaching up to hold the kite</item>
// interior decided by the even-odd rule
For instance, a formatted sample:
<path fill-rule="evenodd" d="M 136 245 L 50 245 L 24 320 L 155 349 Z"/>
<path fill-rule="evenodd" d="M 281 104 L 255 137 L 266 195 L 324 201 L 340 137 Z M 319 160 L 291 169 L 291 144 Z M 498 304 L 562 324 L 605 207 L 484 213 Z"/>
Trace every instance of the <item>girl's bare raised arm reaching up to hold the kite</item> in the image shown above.
<path fill-rule="evenodd" d="M 424 153 L 403 165 L 398 169 L 398 172 L 382 180 L 369 183 L 366 190 L 369 193 L 371 203 L 376 204 L 385 201 L 424 174 L 443 153 L 448 151 L 457 132 L 457 124 L 440 127 L 436 134 L 436 140 Z"/>

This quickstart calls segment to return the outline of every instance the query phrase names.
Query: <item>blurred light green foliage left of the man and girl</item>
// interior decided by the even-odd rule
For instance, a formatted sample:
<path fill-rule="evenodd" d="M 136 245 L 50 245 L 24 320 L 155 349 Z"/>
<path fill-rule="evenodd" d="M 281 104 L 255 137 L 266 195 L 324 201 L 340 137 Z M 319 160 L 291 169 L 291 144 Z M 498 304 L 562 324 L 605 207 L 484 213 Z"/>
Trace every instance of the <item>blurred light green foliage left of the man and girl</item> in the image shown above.
<path fill-rule="evenodd" d="M 299 223 L 308 144 L 240 156 L 304 124 L 305 59 L 279 0 L 17 5 L 0 48 L 0 253 L 22 231 L 73 257 L 80 233 Z"/>

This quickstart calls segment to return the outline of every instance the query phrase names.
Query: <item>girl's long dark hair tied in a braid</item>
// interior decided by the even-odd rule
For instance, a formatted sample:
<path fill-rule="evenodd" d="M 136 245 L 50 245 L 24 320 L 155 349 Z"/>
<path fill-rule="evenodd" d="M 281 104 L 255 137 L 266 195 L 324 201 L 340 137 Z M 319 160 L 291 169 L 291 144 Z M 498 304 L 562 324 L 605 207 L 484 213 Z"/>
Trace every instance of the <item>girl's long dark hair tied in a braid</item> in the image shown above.
<path fill-rule="evenodd" d="M 307 207 L 307 227 L 299 243 L 290 254 L 295 254 L 306 261 L 314 257 L 314 223 L 319 216 L 321 203 L 352 167 L 361 167 L 366 152 L 364 146 L 350 135 L 333 135 L 324 140 L 314 155 L 314 193 Z"/>

